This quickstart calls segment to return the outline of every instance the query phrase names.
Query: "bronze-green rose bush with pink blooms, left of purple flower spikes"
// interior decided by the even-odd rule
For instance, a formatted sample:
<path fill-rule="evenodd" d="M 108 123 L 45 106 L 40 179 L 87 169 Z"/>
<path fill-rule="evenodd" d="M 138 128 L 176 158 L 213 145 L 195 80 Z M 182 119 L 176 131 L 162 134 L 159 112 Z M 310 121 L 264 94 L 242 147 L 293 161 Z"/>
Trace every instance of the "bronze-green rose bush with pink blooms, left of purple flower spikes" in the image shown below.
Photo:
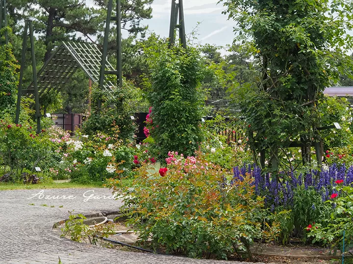
<path fill-rule="evenodd" d="M 227 180 L 227 170 L 204 159 L 169 152 L 167 167 L 144 165 L 124 210 L 141 242 L 189 257 L 251 257 L 254 239 L 275 239 L 279 223 L 254 195 L 252 179 Z"/>

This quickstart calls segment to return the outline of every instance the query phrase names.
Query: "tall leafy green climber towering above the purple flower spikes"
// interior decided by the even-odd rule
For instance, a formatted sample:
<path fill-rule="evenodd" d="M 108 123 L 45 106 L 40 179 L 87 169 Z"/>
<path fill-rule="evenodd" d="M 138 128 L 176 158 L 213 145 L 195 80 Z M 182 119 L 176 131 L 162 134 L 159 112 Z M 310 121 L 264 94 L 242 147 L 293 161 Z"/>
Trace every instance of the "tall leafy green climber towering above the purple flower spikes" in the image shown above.
<path fill-rule="evenodd" d="M 249 143 L 267 150 L 277 171 L 278 153 L 291 140 L 320 140 L 318 102 L 339 72 L 352 76 L 352 0 L 221 0 L 237 22 L 237 40 L 260 66 L 256 86 L 237 97 L 248 122 Z"/>

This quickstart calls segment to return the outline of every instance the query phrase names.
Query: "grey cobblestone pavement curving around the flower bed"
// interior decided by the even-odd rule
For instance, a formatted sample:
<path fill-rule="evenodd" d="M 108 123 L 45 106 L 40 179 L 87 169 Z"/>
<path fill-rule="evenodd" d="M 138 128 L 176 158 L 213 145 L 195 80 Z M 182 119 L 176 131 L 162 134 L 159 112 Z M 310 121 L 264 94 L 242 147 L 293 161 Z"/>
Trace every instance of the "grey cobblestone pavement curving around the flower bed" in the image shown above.
<path fill-rule="evenodd" d="M 51 196 L 51 199 L 40 198 L 41 190 L 0 191 L 0 264 L 58 264 L 58 257 L 62 264 L 237 264 L 118 251 L 60 238 L 52 226 L 67 219 L 68 211 L 105 214 L 117 211 L 121 205 L 117 200 L 102 198 L 85 202 L 86 191 L 89 191 L 86 197 L 111 195 L 110 190 L 103 188 L 43 190 L 42 196 Z"/>

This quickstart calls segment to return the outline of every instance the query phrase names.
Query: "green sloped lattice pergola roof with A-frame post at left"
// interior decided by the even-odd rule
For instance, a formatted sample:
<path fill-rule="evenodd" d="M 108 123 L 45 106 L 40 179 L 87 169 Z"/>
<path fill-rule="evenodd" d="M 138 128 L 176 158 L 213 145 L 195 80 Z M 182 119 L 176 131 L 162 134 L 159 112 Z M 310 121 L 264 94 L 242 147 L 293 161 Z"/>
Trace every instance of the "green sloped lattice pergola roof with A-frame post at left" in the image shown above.
<path fill-rule="evenodd" d="M 30 22 L 31 24 L 31 22 Z M 26 28 L 26 27 L 25 27 Z M 32 36 L 32 34 L 30 34 Z M 32 37 L 33 38 L 33 37 Z M 25 29 L 24 33 L 24 44 L 23 44 L 23 57 L 21 62 L 21 73 L 17 109 L 16 109 L 16 120 L 15 123 L 19 122 L 21 97 L 26 95 L 28 97 L 34 97 L 36 105 L 36 117 L 38 133 L 40 132 L 40 110 L 39 102 L 43 96 L 54 89 L 59 93 L 62 88 L 69 82 L 70 78 L 75 74 L 77 69 L 81 68 L 86 76 L 96 84 L 100 84 L 100 72 L 101 72 L 101 50 L 95 44 L 88 43 L 67 43 L 63 42 L 51 55 L 50 59 L 44 64 L 39 70 L 38 74 L 35 71 L 35 59 L 34 49 L 32 52 L 32 61 L 34 59 L 33 67 L 33 81 L 27 89 L 22 89 L 23 84 L 23 71 L 25 69 L 25 51 L 27 49 L 27 33 Z M 31 47 L 33 41 L 31 39 Z M 106 62 L 106 68 L 113 71 L 114 68 L 109 62 Z M 112 87 L 114 84 L 109 80 L 104 80 L 102 89 L 105 90 L 110 96 L 112 94 Z"/>

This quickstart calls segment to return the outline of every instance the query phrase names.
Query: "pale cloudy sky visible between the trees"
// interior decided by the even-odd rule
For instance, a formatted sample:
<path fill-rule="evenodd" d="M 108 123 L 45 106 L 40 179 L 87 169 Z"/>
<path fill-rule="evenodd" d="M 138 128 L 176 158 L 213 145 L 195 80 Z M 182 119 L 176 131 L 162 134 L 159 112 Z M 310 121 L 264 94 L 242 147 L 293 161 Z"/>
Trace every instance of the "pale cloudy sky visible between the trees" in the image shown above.
<path fill-rule="evenodd" d="M 225 10 L 218 0 L 184 0 L 184 19 L 186 34 L 189 35 L 197 27 L 197 39 L 201 44 L 215 44 L 225 46 L 231 44 L 234 39 L 233 21 L 228 21 L 222 14 Z M 93 0 L 86 0 L 86 4 L 92 5 Z M 142 24 L 148 25 L 151 32 L 168 37 L 172 0 L 154 0 L 150 20 L 144 20 Z M 200 22 L 199 26 L 198 23 Z"/>

